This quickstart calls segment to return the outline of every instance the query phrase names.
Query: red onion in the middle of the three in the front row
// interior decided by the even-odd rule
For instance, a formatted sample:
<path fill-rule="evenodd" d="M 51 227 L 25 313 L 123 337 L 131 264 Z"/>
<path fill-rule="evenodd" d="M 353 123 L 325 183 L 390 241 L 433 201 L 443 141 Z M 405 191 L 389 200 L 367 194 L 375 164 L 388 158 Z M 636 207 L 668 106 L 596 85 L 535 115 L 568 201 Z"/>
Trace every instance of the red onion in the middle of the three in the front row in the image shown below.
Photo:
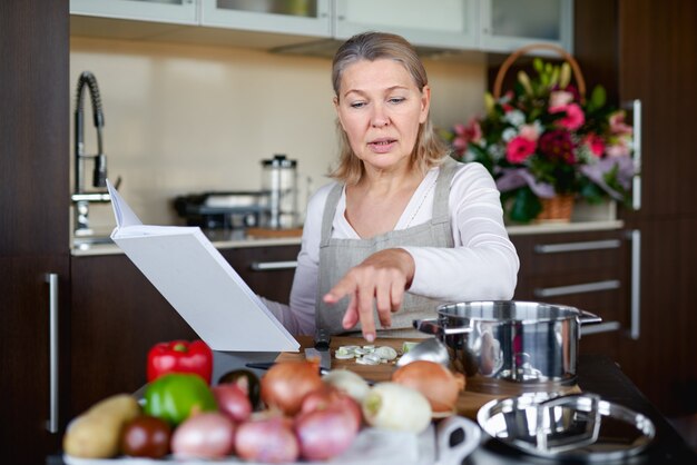
<path fill-rule="evenodd" d="M 300 456 L 292 422 L 281 416 L 251 419 L 239 425 L 235 451 L 244 459 L 265 463 L 295 462 Z"/>

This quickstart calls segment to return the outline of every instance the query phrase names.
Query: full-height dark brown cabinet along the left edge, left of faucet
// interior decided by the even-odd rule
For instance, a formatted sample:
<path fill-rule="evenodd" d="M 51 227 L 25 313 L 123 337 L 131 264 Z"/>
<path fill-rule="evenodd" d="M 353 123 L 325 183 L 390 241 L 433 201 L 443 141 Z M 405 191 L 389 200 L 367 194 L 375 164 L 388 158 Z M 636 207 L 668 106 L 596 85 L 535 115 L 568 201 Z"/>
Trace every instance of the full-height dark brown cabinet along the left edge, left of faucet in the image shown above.
<path fill-rule="evenodd" d="M 60 451 L 66 422 L 68 23 L 68 0 L 0 2 L 0 448 L 12 464 Z"/>

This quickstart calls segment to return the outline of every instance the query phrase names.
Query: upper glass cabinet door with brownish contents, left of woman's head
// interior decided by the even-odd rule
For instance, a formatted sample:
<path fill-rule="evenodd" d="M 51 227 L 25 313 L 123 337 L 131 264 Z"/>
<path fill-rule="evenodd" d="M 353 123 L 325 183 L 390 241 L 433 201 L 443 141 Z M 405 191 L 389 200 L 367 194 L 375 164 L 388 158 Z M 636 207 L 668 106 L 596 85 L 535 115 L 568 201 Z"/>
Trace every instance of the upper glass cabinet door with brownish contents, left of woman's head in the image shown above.
<path fill-rule="evenodd" d="M 330 0 L 202 0 L 202 24 L 330 37 Z"/>

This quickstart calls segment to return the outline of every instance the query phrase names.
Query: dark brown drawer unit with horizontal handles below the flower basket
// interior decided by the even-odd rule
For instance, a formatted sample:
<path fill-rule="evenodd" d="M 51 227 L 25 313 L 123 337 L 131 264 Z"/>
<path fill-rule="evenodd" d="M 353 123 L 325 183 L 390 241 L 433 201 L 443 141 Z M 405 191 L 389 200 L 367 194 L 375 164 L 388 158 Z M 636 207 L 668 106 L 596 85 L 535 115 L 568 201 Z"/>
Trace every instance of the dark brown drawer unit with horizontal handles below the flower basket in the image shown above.
<path fill-rule="evenodd" d="M 625 230 L 514 235 L 516 299 L 570 305 L 602 318 L 583 325 L 581 353 L 618 356 L 631 337 L 631 236 Z"/>

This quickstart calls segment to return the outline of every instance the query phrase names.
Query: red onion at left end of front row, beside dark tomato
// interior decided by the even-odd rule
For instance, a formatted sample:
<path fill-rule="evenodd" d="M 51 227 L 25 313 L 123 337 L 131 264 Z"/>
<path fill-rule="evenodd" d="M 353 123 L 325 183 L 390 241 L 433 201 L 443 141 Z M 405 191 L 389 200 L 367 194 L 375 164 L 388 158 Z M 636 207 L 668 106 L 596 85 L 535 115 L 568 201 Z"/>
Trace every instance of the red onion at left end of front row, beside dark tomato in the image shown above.
<path fill-rule="evenodd" d="M 188 417 L 171 437 L 177 457 L 219 458 L 232 454 L 234 446 L 235 424 L 219 412 Z"/>

